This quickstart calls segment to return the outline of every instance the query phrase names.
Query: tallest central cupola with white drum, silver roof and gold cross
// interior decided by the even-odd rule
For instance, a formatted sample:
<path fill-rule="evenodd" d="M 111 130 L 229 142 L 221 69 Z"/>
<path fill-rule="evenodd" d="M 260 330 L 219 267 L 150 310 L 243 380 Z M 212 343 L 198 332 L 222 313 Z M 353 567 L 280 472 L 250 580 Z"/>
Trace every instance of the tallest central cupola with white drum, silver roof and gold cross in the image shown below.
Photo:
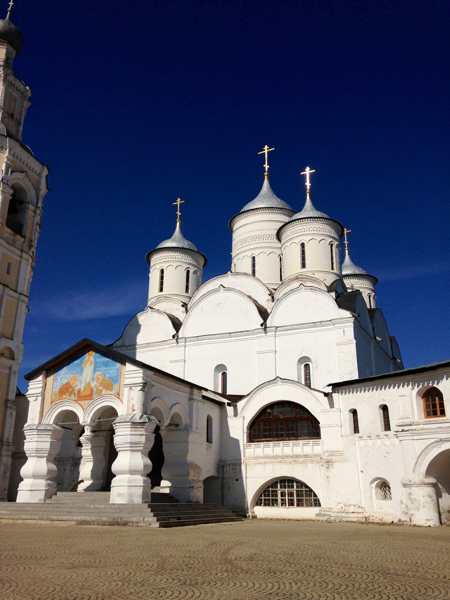
<path fill-rule="evenodd" d="M 277 231 L 294 214 L 292 208 L 275 195 L 269 183 L 268 152 L 265 146 L 264 181 L 260 193 L 230 220 L 233 232 L 232 272 L 254 275 L 266 286 L 276 289 L 281 283 L 281 246 Z"/>

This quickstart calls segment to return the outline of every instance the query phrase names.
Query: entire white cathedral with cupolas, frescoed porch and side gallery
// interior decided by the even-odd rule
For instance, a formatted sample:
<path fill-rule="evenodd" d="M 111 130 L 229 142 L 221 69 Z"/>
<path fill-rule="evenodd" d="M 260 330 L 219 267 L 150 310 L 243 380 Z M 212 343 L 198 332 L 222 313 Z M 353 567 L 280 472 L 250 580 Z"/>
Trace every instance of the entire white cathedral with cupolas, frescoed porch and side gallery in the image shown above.
<path fill-rule="evenodd" d="M 450 522 L 450 361 L 403 368 L 348 230 L 314 208 L 309 168 L 300 212 L 275 195 L 269 150 L 230 271 L 202 284 L 178 200 L 145 310 L 28 374 L 17 502 L 157 491 L 247 517 Z"/>

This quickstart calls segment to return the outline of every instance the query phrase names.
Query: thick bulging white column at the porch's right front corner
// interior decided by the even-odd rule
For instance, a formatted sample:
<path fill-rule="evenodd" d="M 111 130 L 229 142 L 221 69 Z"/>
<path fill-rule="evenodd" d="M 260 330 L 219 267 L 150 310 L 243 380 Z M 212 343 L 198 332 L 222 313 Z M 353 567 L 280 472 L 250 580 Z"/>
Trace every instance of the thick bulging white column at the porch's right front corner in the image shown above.
<path fill-rule="evenodd" d="M 151 482 L 146 473 L 152 469 L 148 452 L 153 445 L 158 421 L 151 415 L 128 413 L 113 422 L 114 445 L 118 457 L 112 464 L 112 504 L 150 502 Z"/>

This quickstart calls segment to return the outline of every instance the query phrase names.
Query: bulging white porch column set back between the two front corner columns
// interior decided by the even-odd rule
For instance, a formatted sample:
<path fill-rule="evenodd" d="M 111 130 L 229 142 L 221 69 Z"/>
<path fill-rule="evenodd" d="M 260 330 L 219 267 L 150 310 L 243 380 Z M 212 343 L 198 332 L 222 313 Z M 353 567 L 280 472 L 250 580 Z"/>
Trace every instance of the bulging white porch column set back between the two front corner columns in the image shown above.
<path fill-rule="evenodd" d="M 105 467 L 106 436 L 103 431 L 92 433 L 86 427 L 86 433 L 80 437 L 82 443 L 80 481 L 77 491 L 98 491 L 103 487 Z"/>

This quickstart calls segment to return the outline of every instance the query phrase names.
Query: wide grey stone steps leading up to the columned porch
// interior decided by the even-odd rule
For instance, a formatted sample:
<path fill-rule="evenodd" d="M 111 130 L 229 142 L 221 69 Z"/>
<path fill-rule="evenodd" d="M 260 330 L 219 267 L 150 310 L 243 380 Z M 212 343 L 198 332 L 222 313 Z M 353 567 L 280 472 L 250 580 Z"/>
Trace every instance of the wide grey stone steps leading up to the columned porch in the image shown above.
<path fill-rule="evenodd" d="M 58 492 L 45 503 L 0 503 L 0 523 L 181 527 L 242 521 L 218 504 L 178 503 L 155 493 L 149 504 L 110 504 L 109 492 Z"/>

